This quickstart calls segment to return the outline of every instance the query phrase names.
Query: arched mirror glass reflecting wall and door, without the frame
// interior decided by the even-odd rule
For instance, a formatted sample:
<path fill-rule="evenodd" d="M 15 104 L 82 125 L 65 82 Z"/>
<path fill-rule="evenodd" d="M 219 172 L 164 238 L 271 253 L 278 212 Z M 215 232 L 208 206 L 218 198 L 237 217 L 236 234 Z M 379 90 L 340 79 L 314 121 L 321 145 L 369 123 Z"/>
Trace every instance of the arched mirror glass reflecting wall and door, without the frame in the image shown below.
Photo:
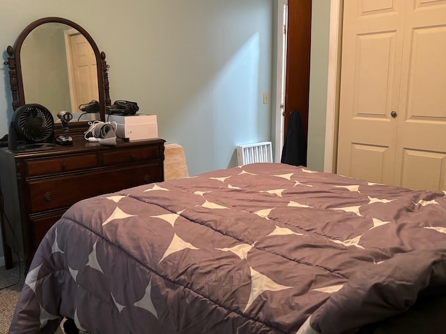
<path fill-rule="evenodd" d="M 95 54 L 82 33 L 58 22 L 41 24 L 26 36 L 20 57 L 26 103 L 43 104 L 55 121 L 59 111 L 69 111 L 73 120 L 100 119 L 79 111 L 99 100 Z"/>

